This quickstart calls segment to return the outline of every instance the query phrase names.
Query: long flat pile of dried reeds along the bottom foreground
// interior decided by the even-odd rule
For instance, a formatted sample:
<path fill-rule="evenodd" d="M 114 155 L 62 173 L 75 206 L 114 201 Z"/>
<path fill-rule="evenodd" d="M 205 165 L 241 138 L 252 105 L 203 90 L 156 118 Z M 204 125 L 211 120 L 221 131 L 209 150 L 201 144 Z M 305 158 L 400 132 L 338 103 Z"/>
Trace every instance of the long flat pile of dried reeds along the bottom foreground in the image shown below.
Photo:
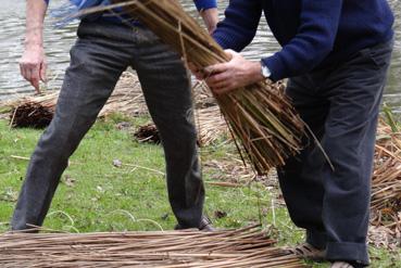
<path fill-rule="evenodd" d="M 2 267 L 304 267 L 259 228 L 216 232 L 9 233 Z"/>

